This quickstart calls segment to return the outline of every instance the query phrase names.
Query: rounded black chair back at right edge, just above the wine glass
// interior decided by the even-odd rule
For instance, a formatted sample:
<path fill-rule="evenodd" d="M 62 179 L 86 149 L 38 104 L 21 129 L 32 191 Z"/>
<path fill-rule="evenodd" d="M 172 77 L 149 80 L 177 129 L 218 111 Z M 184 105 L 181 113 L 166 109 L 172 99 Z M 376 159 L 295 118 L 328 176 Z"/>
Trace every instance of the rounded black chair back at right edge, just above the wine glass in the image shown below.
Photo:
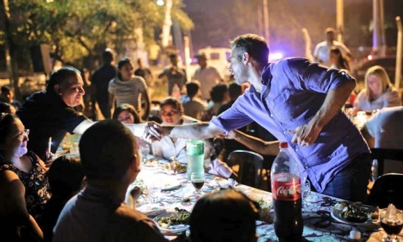
<path fill-rule="evenodd" d="M 403 209 L 403 174 L 387 173 L 375 180 L 370 195 L 368 205 L 386 208 L 393 203 L 397 209 Z"/>

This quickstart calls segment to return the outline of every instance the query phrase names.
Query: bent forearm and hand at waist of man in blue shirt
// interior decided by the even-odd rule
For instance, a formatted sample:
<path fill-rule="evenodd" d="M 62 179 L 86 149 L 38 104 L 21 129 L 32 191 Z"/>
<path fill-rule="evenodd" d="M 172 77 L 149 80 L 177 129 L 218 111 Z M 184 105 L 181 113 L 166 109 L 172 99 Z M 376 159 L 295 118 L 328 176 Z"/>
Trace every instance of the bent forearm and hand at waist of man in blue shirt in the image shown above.
<path fill-rule="evenodd" d="M 320 110 L 313 116 L 313 119 L 303 126 L 299 126 L 293 132 L 295 135 L 291 140 L 299 145 L 311 145 L 318 138 L 322 128 L 340 112 L 345 101 L 356 87 L 354 81 L 347 81 L 334 89 L 331 89 Z"/>

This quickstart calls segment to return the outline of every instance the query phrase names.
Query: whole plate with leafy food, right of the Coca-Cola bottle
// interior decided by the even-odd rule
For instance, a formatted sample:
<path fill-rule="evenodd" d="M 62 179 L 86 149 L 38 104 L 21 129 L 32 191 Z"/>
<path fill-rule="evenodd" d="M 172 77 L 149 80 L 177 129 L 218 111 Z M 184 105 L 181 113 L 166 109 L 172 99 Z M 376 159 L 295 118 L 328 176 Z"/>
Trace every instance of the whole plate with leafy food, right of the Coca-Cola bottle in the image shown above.
<path fill-rule="evenodd" d="M 349 225 L 363 225 L 379 221 L 379 209 L 361 202 L 337 202 L 331 210 L 331 217 Z"/>

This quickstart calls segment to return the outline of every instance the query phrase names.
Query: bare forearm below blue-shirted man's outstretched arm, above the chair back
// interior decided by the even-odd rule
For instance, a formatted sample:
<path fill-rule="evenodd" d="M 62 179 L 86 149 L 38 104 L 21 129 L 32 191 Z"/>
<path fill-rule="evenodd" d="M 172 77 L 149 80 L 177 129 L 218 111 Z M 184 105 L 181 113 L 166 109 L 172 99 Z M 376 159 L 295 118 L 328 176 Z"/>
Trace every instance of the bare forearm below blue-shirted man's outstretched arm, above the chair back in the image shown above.
<path fill-rule="evenodd" d="M 261 155 L 278 155 L 279 154 L 279 141 L 263 141 L 258 137 L 252 135 L 247 135 L 239 130 L 231 130 L 227 139 L 235 139 L 240 144 L 247 146 L 251 150 L 261 154 Z"/>

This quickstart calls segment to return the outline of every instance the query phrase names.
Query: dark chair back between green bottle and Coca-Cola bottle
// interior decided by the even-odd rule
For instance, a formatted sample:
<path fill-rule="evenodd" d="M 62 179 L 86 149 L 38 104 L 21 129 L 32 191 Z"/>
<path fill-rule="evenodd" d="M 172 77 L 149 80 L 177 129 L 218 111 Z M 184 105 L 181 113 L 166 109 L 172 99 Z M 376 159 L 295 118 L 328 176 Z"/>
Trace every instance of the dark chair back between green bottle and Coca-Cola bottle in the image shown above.
<path fill-rule="evenodd" d="M 249 150 L 233 150 L 227 164 L 238 175 L 237 181 L 249 187 L 259 188 L 262 180 L 263 156 Z"/>

